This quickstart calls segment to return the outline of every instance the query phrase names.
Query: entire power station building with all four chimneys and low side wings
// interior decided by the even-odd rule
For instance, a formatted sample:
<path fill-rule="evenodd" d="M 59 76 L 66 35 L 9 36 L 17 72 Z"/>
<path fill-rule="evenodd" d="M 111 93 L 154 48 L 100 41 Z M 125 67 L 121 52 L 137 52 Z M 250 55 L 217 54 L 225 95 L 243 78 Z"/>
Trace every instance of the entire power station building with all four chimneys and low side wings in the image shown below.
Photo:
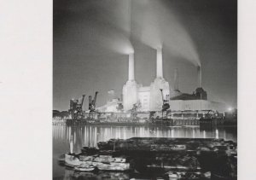
<path fill-rule="evenodd" d="M 156 77 L 148 86 L 137 84 L 134 74 L 134 54 L 129 55 L 128 80 L 122 89 L 121 99 L 114 95 L 114 90 L 108 91 L 108 102 L 99 107 L 100 112 L 118 112 L 122 104 L 125 112 L 159 112 L 162 110 L 163 100 L 170 105 L 170 111 L 176 113 L 208 111 L 224 113 L 226 105 L 222 102 L 207 100 L 207 91 L 203 90 L 201 83 L 201 67 L 197 67 L 198 88 L 192 94 L 185 94 L 178 90 L 178 73 L 174 73 L 174 87 L 170 86 L 163 77 L 162 49 L 156 49 Z M 162 90 L 162 94 L 161 94 Z"/>

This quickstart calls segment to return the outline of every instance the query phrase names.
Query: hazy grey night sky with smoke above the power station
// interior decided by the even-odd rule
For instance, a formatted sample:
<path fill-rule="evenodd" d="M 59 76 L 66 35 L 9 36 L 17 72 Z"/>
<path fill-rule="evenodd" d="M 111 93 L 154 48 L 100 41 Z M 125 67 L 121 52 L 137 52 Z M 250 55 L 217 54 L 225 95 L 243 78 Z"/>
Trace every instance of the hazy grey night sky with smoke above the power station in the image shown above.
<path fill-rule="evenodd" d="M 197 88 L 195 64 L 201 61 L 208 99 L 236 107 L 236 0 L 139 0 L 129 4 L 121 0 L 54 0 L 54 109 L 67 110 L 69 100 L 82 94 L 87 108 L 88 96 L 96 90 L 98 106 L 106 103 L 108 90 L 120 96 L 128 78 L 125 54 L 131 44 L 137 84 L 148 86 L 156 73 L 155 39 L 163 43 L 164 78 L 171 86 L 177 68 L 179 90 L 192 93 Z M 160 35 L 150 36 L 150 32 Z"/>

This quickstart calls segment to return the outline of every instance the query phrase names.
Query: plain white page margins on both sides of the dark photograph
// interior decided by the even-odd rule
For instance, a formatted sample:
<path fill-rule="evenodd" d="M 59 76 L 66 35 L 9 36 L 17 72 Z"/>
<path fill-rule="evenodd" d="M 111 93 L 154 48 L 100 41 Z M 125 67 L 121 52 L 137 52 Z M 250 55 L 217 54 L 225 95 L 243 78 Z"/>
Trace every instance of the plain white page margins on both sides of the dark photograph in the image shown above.
<path fill-rule="evenodd" d="M 254 180 L 256 1 L 238 2 L 238 179 Z M 52 179 L 52 9 L 0 1 L 1 179 Z"/>

